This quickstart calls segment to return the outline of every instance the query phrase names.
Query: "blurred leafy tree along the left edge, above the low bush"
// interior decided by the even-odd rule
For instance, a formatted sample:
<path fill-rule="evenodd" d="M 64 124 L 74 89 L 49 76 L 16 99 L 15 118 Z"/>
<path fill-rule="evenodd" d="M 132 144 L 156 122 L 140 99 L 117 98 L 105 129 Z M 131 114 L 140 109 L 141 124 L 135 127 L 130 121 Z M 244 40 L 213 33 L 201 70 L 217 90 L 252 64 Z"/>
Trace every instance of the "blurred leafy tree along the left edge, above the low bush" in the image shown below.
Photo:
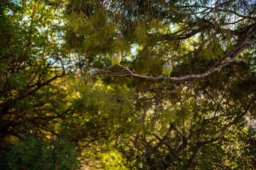
<path fill-rule="evenodd" d="M 58 9 L 58 8 L 57 8 Z M 58 135 L 68 116 L 70 55 L 61 48 L 63 17 L 43 1 L 1 2 L 1 149 L 24 133 Z M 58 84 L 58 85 L 57 85 Z M 58 123 L 56 123 L 58 122 Z M 48 136 L 49 137 L 49 136 Z"/>

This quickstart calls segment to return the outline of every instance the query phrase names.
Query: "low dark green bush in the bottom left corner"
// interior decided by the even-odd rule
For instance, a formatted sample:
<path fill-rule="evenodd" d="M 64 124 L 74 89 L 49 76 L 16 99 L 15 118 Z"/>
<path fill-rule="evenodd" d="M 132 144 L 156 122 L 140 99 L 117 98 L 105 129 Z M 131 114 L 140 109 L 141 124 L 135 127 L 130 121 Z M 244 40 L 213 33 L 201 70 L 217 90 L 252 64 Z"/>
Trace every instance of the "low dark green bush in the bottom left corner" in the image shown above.
<path fill-rule="evenodd" d="M 21 145 L 15 144 L 5 159 L 1 159 L 1 169 L 79 169 L 79 162 L 70 142 L 55 139 L 44 142 L 36 137 L 26 137 Z"/>

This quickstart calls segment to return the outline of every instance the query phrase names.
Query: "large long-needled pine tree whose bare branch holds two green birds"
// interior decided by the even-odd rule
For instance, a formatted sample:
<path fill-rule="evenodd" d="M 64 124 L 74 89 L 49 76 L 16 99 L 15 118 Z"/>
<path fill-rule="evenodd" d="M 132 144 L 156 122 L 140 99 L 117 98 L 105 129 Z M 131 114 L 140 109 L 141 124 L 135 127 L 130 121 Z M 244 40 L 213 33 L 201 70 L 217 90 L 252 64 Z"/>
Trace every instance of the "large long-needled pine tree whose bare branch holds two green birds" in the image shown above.
<path fill-rule="evenodd" d="M 66 47 L 90 60 L 85 84 L 114 89 L 78 103 L 117 118 L 115 148 L 130 169 L 253 169 L 255 10 L 242 0 L 68 1 Z M 116 49 L 124 67 L 108 68 Z M 168 59 L 176 81 L 163 85 Z"/>

